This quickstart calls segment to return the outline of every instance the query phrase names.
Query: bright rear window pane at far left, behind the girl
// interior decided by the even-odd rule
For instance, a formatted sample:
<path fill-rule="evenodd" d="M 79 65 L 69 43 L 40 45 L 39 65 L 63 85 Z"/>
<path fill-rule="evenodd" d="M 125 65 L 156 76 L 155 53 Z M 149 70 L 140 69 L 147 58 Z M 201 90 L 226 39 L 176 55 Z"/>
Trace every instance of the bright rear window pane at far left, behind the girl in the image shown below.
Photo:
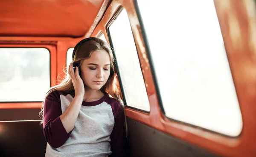
<path fill-rule="evenodd" d="M 49 50 L 0 48 L 0 102 L 43 101 L 49 88 Z"/>

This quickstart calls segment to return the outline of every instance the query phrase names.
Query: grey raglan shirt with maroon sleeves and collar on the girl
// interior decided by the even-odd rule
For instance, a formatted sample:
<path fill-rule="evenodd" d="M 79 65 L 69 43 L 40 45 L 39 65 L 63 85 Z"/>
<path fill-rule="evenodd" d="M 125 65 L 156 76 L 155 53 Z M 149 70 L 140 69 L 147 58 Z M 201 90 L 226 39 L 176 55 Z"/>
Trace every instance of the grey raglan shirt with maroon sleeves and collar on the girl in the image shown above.
<path fill-rule="evenodd" d="M 66 132 L 60 115 L 73 96 L 53 91 L 44 101 L 45 157 L 128 157 L 124 111 L 107 93 L 98 101 L 81 104 L 75 126 Z"/>

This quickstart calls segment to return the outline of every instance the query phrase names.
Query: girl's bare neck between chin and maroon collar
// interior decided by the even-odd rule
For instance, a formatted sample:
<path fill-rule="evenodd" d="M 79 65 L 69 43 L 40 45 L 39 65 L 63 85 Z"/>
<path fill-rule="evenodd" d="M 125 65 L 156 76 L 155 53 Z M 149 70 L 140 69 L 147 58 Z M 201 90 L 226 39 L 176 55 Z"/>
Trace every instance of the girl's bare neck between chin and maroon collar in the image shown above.
<path fill-rule="evenodd" d="M 92 90 L 84 88 L 84 98 L 83 101 L 97 101 L 104 96 L 101 90 Z"/>

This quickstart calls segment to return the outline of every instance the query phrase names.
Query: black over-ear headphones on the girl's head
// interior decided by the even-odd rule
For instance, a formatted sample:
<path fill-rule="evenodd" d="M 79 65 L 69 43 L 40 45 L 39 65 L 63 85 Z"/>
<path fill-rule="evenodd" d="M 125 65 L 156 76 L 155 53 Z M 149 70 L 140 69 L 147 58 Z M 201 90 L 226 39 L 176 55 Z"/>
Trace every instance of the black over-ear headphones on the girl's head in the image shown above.
<path fill-rule="evenodd" d="M 79 48 L 79 46 L 84 43 L 84 42 L 87 42 L 89 40 L 95 40 L 95 39 L 99 39 L 99 38 L 96 38 L 96 37 L 89 37 L 89 38 L 85 38 L 85 39 L 82 39 L 80 42 L 78 42 L 73 50 L 73 53 L 72 53 L 72 62 L 73 62 L 73 69 L 76 73 L 76 67 L 78 67 L 78 70 L 79 70 L 79 76 L 81 77 L 81 69 L 79 67 L 79 63 L 78 62 L 74 62 L 74 57 L 75 57 L 75 53 L 76 53 L 76 50 Z M 114 75 L 114 70 L 113 70 L 113 67 L 110 66 L 110 75 L 108 77 L 108 80 Z"/>

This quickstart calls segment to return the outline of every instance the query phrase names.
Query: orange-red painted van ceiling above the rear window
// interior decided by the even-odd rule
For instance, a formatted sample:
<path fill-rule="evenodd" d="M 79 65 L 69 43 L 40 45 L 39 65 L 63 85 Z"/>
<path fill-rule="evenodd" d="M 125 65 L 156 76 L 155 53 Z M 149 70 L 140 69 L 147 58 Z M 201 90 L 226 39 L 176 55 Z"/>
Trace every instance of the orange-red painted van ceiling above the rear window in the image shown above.
<path fill-rule="evenodd" d="M 0 0 L 0 36 L 84 36 L 102 1 Z"/>

